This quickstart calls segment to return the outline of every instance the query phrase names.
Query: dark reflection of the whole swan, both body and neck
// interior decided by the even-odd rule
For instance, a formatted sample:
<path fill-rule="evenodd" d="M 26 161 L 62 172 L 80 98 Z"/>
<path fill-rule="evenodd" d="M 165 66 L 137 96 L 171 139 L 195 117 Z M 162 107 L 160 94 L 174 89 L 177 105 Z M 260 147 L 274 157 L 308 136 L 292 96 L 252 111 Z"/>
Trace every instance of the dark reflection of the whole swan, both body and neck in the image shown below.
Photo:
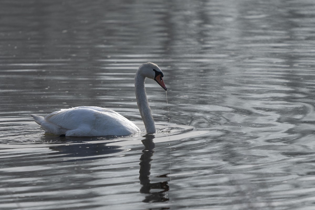
<path fill-rule="evenodd" d="M 153 139 L 154 135 L 146 135 L 145 139 L 142 140 L 144 145 L 144 150 L 142 150 L 142 155 L 140 156 L 140 193 L 145 194 L 143 202 L 164 202 L 168 201 L 169 198 L 166 196 L 169 191 L 169 177 L 168 174 L 162 174 L 158 176 L 158 179 L 163 178 L 163 181 L 151 183 L 150 179 L 150 170 L 151 170 L 151 161 L 152 156 L 155 153 L 154 148 L 155 144 Z M 83 143 L 84 140 L 79 138 L 59 138 L 58 141 L 62 142 L 76 142 Z M 52 146 L 49 149 L 57 151 L 58 157 L 64 158 L 63 162 L 77 162 L 77 161 L 95 161 L 97 159 L 104 159 L 106 157 L 111 157 L 111 154 L 117 154 L 126 151 L 126 148 L 123 146 L 114 146 L 108 145 L 112 143 L 97 143 L 97 144 L 79 144 L 79 145 L 67 145 L 67 146 Z M 50 155 L 55 156 L 56 153 Z M 119 169 L 119 168 L 117 168 Z M 106 178 L 104 178 L 106 179 Z M 167 179 L 167 181 L 165 181 Z M 164 209 L 164 208 L 163 208 Z M 165 208 L 168 209 L 168 208 Z"/>

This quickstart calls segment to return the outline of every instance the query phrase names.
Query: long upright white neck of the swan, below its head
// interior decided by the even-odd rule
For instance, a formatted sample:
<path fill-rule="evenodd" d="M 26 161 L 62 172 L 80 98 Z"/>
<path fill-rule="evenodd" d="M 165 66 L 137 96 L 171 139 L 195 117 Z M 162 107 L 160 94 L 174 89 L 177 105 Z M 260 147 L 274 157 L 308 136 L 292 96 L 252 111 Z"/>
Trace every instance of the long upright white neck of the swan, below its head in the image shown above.
<path fill-rule="evenodd" d="M 135 76 L 136 99 L 140 115 L 144 126 L 146 127 L 146 133 L 155 133 L 154 120 L 151 114 L 148 99 L 146 98 L 146 89 L 144 88 L 145 80 L 146 77 L 142 76 L 139 71 L 137 71 Z"/>

